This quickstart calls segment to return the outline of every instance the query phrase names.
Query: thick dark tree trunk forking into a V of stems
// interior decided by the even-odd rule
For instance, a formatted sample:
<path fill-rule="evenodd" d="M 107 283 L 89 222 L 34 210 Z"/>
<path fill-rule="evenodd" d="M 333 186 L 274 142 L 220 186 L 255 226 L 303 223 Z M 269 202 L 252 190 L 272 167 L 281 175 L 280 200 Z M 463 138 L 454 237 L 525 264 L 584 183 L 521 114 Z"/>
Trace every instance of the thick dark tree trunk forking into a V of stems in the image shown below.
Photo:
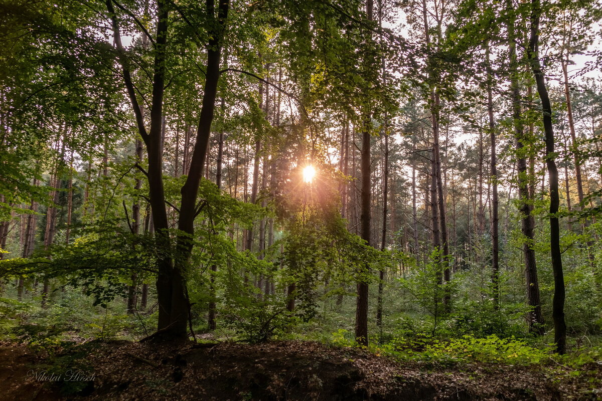
<path fill-rule="evenodd" d="M 196 201 L 203 173 L 203 166 L 207 154 L 211 123 L 215 109 L 217 94 L 217 81 L 220 76 L 221 42 L 225 20 L 228 16 L 229 1 L 220 0 L 219 10 L 214 8 L 213 2 L 207 2 L 206 12 L 209 19 L 213 20 L 211 34 L 209 35 L 207 61 L 205 71 L 205 85 L 203 88 L 202 106 L 199 114 L 196 142 L 190 160 L 190 169 L 187 179 L 181 188 L 181 205 L 178 219 L 178 230 L 181 234 L 176 237 L 176 252 L 172 256 L 169 237 L 169 221 L 165 204 L 163 188 L 163 97 L 166 72 L 166 47 L 169 31 L 169 8 L 160 0 L 157 2 L 157 35 L 154 51 L 154 70 L 152 78 L 152 102 L 150 114 L 150 130 L 146 131 L 144 118 L 138 106 L 137 94 L 131 81 L 129 60 L 121 43 L 119 23 L 115 14 L 113 3 L 107 0 L 107 9 L 111 14 L 114 41 L 117 46 L 119 62 L 122 66 L 122 75 L 132 109 L 136 117 L 138 132 L 142 136 L 147 148 L 149 182 L 149 200 L 152 209 L 155 227 L 155 239 L 158 248 L 162 249 L 158 259 L 157 274 L 157 301 L 159 306 L 158 330 L 167 337 L 185 337 L 187 334 L 189 303 L 185 286 L 185 266 L 188 264 L 192 252 L 194 236 L 194 218 L 197 214 Z"/>

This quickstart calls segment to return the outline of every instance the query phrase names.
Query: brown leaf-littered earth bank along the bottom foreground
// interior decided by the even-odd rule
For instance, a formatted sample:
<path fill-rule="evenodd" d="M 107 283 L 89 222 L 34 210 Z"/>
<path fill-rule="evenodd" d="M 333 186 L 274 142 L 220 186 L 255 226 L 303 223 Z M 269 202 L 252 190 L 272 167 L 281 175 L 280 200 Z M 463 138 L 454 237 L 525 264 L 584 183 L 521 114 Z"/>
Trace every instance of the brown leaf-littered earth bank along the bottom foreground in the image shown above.
<path fill-rule="evenodd" d="M 577 375 L 561 366 L 400 364 L 367 350 L 306 341 L 92 341 L 51 359 L 0 344 L 0 399 L 602 400 L 596 385 L 602 366 L 594 365 Z"/>

